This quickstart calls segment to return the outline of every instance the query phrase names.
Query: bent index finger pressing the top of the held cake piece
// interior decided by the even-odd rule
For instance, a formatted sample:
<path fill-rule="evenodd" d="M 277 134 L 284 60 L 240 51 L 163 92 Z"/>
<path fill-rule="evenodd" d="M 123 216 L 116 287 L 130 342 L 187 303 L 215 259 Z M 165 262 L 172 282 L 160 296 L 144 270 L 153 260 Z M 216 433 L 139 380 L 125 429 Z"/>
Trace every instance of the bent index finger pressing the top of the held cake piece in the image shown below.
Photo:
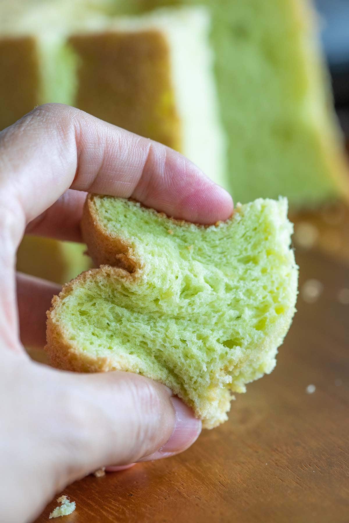
<path fill-rule="evenodd" d="M 19 236 L 69 187 L 133 197 L 204 224 L 233 210 L 228 192 L 181 154 L 60 104 L 38 107 L 0 133 L 0 152 L 0 197 L 19 203 L 25 222 Z"/>

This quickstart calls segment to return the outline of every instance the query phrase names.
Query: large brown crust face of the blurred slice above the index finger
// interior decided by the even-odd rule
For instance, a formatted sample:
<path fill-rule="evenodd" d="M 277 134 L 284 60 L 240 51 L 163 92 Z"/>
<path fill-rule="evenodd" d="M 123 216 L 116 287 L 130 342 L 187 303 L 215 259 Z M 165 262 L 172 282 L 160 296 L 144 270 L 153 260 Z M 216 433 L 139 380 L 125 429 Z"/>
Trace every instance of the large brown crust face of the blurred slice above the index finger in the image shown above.
<path fill-rule="evenodd" d="M 181 150 L 171 56 L 162 32 L 88 33 L 69 43 L 80 57 L 77 107 Z"/>

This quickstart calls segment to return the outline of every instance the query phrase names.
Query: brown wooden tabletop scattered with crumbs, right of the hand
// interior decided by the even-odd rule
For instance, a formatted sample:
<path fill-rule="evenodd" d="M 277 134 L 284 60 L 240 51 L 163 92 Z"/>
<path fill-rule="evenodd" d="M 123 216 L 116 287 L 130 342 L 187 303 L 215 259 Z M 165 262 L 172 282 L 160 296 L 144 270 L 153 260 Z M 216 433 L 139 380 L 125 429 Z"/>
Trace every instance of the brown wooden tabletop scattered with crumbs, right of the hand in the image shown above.
<path fill-rule="evenodd" d="M 229 422 L 174 458 L 70 485 L 76 510 L 62 523 L 349 521 L 349 305 L 338 297 L 349 264 L 318 247 L 297 248 L 298 312 L 278 364 L 238 395 Z M 314 303 L 302 298 L 309 279 L 323 285 Z"/>

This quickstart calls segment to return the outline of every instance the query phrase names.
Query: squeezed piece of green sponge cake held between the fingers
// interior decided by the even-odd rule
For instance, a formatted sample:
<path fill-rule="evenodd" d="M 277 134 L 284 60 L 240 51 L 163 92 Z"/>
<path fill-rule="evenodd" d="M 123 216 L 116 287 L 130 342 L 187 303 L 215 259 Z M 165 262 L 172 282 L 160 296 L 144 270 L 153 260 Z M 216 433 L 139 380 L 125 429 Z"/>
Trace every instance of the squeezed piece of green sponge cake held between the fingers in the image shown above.
<path fill-rule="evenodd" d="M 83 232 L 95 263 L 106 265 L 53 298 L 53 364 L 141 373 L 169 386 L 205 427 L 222 423 L 231 391 L 273 370 L 295 312 L 287 200 L 258 199 L 200 226 L 89 196 Z"/>

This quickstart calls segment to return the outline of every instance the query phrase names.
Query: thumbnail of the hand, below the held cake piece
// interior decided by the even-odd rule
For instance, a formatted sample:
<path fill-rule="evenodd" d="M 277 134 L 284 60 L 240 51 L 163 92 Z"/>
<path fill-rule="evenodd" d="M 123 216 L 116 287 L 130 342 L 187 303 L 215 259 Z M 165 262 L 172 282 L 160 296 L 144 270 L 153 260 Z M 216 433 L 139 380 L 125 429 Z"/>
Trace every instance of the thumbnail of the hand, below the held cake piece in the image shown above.
<path fill-rule="evenodd" d="M 193 411 L 177 397 L 171 397 L 171 401 L 176 413 L 176 425 L 171 438 L 160 450 L 139 461 L 152 461 L 173 456 L 193 445 L 198 438 L 201 432 L 201 420 L 197 419 Z"/>

